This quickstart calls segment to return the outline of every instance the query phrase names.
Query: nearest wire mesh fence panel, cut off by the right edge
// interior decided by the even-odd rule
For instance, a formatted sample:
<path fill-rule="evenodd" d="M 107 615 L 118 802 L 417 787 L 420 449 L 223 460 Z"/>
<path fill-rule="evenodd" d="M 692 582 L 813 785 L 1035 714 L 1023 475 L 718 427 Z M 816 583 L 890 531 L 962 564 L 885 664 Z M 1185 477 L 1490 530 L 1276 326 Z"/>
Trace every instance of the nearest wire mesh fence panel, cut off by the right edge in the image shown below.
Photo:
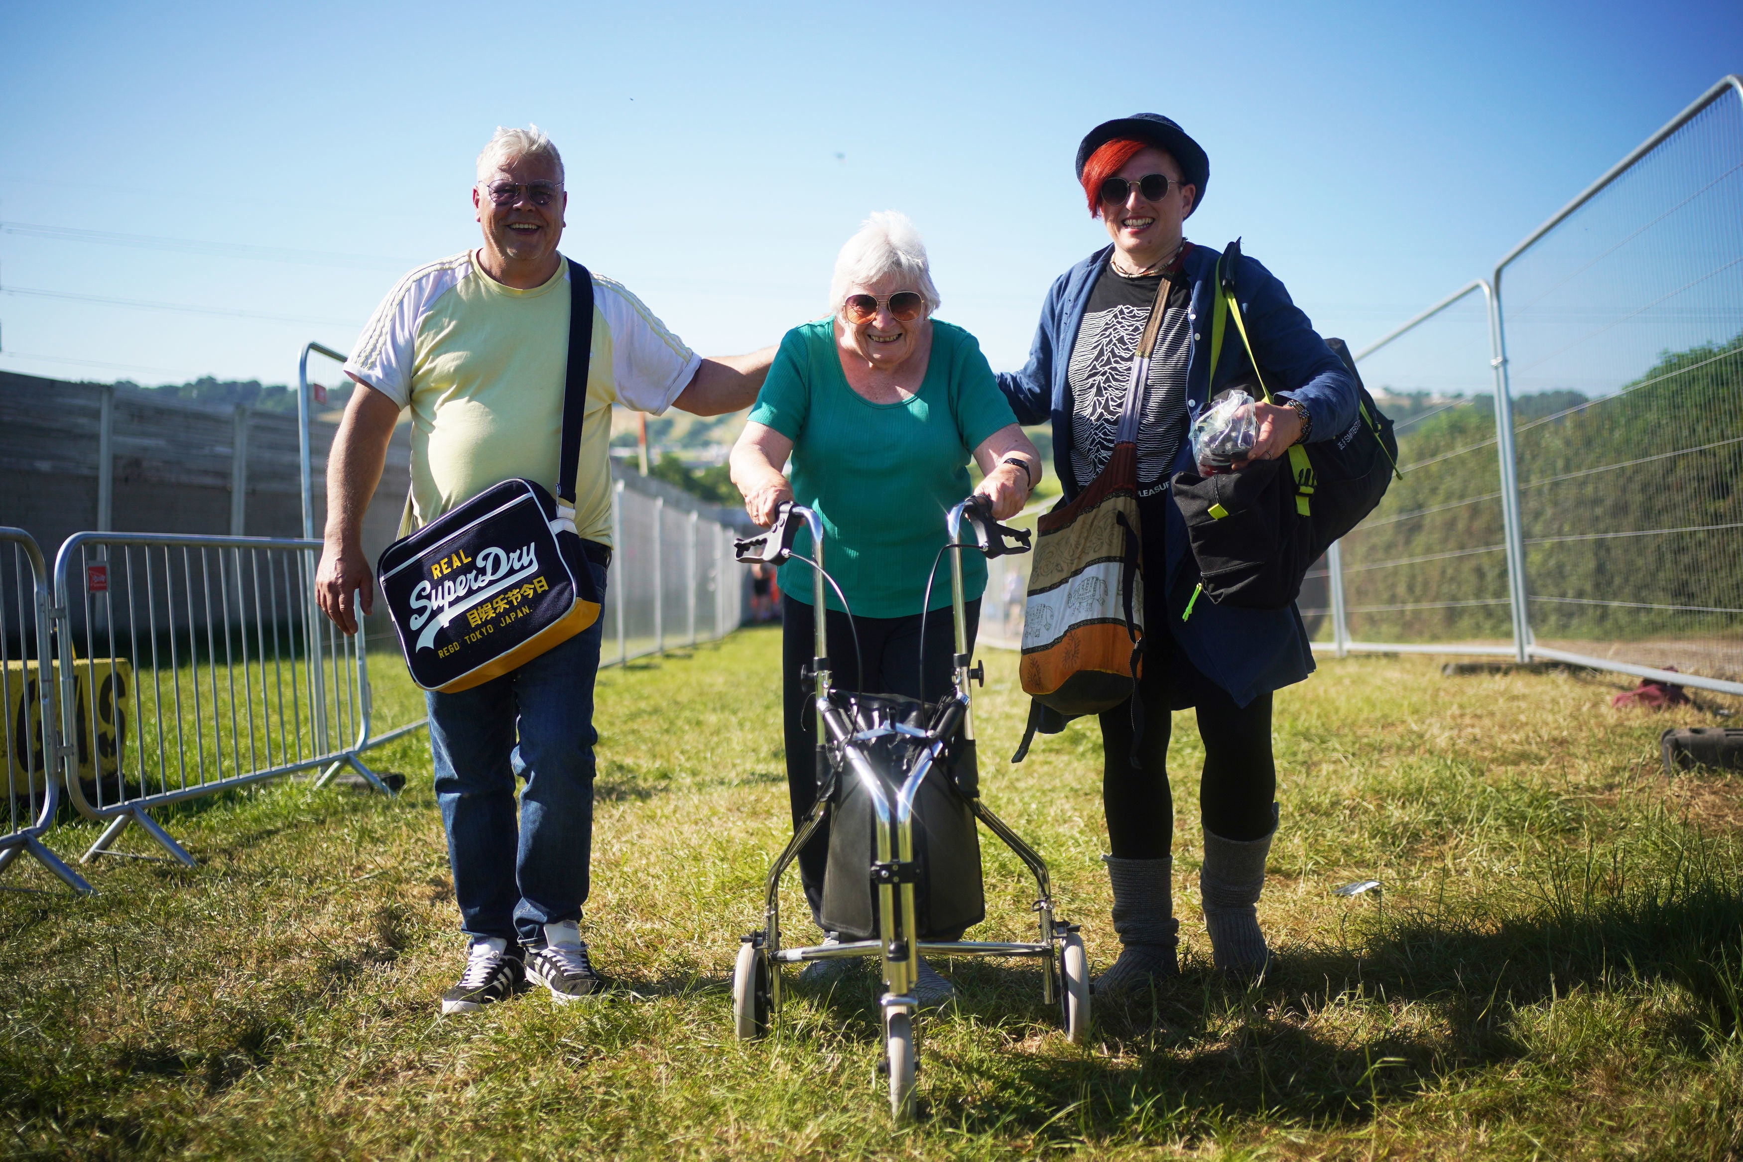
<path fill-rule="evenodd" d="M 1497 268 L 1530 652 L 1743 681 L 1743 99 Z"/>

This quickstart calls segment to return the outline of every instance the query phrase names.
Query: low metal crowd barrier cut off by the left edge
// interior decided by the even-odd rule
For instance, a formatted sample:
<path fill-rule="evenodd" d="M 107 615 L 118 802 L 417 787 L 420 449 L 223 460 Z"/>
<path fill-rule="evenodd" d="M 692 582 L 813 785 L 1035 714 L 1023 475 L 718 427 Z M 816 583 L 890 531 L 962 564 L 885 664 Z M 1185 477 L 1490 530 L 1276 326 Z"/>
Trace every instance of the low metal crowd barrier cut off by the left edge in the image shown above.
<path fill-rule="evenodd" d="M 87 895 L 91 885 L 42 841 L 61 803 L 56 768 L 63 747 L 54 725 L 49 653 L 49 570 L 42 549 L 24 530 L 0 526 L 0 707 L 5 711 L 0 742 L 5 742 L 7 765 L 0 871 L 28 852 L 70 888 Z"/>

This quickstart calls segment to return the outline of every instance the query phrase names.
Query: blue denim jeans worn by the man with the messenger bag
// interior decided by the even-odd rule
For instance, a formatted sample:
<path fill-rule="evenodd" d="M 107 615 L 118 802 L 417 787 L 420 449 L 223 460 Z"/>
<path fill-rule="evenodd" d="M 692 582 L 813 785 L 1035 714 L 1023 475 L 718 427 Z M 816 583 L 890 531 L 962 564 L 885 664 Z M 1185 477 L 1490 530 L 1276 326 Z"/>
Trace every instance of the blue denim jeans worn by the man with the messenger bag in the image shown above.
<path fill-rule="evenodd" d="M 589 563 L 605 594 L 605 568 Z M 469 936 L 521 944 L 580 920 L 593 857 L 593 679 L 601 622 L 460 693 L 425 693 L 436 801 Z M 519 821 L 514 780 L 525 779 Z"/>

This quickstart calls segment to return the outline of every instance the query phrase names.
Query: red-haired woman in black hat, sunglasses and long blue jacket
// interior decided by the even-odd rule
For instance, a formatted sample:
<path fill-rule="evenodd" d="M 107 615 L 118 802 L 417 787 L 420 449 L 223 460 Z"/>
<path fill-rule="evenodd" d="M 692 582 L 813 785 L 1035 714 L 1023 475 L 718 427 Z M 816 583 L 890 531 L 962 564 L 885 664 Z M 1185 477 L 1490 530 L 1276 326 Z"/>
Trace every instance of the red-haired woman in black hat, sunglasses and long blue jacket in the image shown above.
<path fill-rule="evenodd" d="M 1211 368 L 1218 251 L 1196 247 L 1183 233 L 1204 199 L 1210 159 L 1170 118 L 1136 113 L 1096 125 L 1082 139 L 1077 179 L 1110 244 L 1053 284 L 1028 364 L 1000 375 L 999 387 L 1021 423 L 1051 420 L 1061 503 L 1068 503 L 1109 465 L 1138 340 L 1152 307 L 1161 307 L 1149 373 L 1136 383 L 1143 726 L 1133 726 L 1129 700 L 1100 714 L 1110 848 L 1103 859 L 1121 953 L 1096 990 L 1147 988 L 1180 972 L 1166 756 L 1170 713 L 1185 707 L 1197 711 L 1204 740 L 1199 888 L 1211 958 L 1218 970 L 1253 976 L 1271 958 L 1257 918 L 1278 821 L 1271 693 L 1302 681 L 1314 665 L 1293 606 L 1197 601 L 1189 610 L 1199 573 L 1168 483 L 1196 469 L 1190 422 L 1220 392 L 1253 382 L 1239 341 L 1224 343 Z M 1225 274 L 1234 279 L 1265 383 L 1281 387 L 1278 404 L 1253 406 L 1251 456 L 1271 460 L 1295 443 L 1344 432 L 1356 418 L 1356 387 L 1307 315 L 1257 261 L 1243 258 Z M 1042 730 L 1061 725 L 1042 721 Z"/>

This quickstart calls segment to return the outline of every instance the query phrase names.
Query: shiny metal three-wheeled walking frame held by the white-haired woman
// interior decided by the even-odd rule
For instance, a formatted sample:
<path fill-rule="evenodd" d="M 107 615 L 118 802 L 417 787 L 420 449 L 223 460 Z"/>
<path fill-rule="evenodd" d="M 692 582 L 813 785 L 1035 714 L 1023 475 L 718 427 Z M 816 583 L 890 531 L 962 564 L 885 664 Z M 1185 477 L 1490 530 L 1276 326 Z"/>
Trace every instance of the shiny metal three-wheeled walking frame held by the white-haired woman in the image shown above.
<path fill-rule="evenodd" d="M 797 521 L 810 531 L 812 557 L 793 552 Z M 781 1010 L 781 965 L 837 956 L 877 956 L 884 967 L 884 1063 L 889 1075 L 891 1113 L 898 1122 L 913 1117 L 913 1077 L 917 1068 L 913 1017 L 919 1002 L 913 993 L 920 955 L 946 956 L 1035 956 L 1044 963 L 1041 995 L 1044 1003 L 1058 1003 L 1065 1037 L 1082 1044 L 1089 1024 L 1089 965 L 1077 925 L 1053 915 L 1048 866 L 980 798 L 974 761 L 974 719 L 969 709 L 971 681 L 985 683 L 985 669 L 971 665 L 967 618 L 962 598 L 962 552 L 1000 556 L 1028 552 L 1028 533 L 994 521 L 983 497 L 969 497 L 946 517 L 950 556 L 950 608 L 955 618 L 955 657 L 952 690 L 936 704 L 884 695 L 861 697 L 837 690 L 831 683 L 830 648 L 823 617 L 826 584 L 823 568 L 823 521 L 810 509 L 783 505 L 779 519 L 762 537 L 737 542 L 737 559 L 788 561 L 810 564 L 814 573 L 812 608 L 816 617 L 816 655 L 805 669 L 814 683 L 817 716 L 817 800 L 793 840 L 769 868 L 763 894 L 763 927 L 744 936 L 732 970 L 732 1021 L 739 1038 L 767 1033 Z M 962 533 L 973 530 L 973 540 Z M 845 605 L 845 603 L 844 603 Z M 924 629 L 924 627 L 922 627 Z M 924 632 L 922 632 L 924 639 Z M 858 648 L 858 643 L 856 643 Z M 926 892 L 927 862 L 917 859 L 915 803 L 927 780 L 945 780 L 953 796 L 967 805 L 973 819 L 999 836 L 1035 878 L 1037 939 L 1034 942 L 929 941 L 922 934 L 917 899 Z M 781 944 L 781 875 L 798 857 L 800 848 L 837 812 L 852 784 L 863 789 L 872 807 L 872 861 L 865 869 L 875 899 L 875 939 L 786 948 Z M 936 787 L 931 794 L 936 798 Z M 952 800 L 953 801 L 953 800 Z M 922 821 L 924 826 L 924 821 Z M 966 824 L 973 840 L 973 822 Z M 833 845 L 833 836 L 831 836 Z M 833 859 L 833 854 L 831 854 Z M 978 861 L 978 847 L 973 859 Z M 936 861 L 934 861 L 936 862 Z M 978 871 L 978 868 L 976 868 Z"/>

